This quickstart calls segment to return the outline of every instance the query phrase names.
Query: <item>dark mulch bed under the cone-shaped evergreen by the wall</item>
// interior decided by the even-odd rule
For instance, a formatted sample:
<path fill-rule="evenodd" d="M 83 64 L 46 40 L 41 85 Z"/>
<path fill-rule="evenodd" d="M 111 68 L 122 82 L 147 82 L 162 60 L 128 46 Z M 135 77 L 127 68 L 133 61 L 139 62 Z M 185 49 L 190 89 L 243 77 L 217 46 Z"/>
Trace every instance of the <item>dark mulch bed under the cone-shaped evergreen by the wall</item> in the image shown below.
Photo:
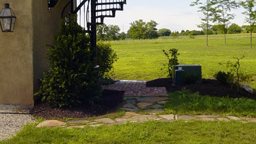
<path fill-rule="evenodd" d="M 91 116 L 106 115 L 107 113 L 116 112 L 118 105 L 122 103 L 124 91 L 105 90 L 102 97 L 97 102 L 97 107 L 77 106 L 74 108 L 50 108 L 40 113 L 34 114 L 36 118 L 85 118 Z M 99 107 L 100 106 L 100 107 Z M 49 106 L 45 102 L 38 102 L 31 109 L 31 112 L 40 111 Z"/>

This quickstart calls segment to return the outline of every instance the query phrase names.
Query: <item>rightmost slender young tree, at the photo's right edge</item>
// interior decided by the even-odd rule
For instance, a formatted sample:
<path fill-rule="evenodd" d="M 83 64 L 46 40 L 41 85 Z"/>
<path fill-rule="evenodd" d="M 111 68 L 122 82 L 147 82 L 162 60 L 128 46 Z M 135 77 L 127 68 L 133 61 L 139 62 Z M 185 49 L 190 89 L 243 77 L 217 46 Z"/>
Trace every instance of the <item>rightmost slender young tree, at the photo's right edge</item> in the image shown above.
<path fill-rule="evenodd" d="M 245 18 L 245 22 L 250 24 L 250 33 L 251 33 L 251 49 L 252 49 L 252 26 L 256 22 L 255 16 L 255 0 L 246 0 L 241 2 L 241 6 L 243 6 L 244 11 L 243 14 L 247 17 Z"/>

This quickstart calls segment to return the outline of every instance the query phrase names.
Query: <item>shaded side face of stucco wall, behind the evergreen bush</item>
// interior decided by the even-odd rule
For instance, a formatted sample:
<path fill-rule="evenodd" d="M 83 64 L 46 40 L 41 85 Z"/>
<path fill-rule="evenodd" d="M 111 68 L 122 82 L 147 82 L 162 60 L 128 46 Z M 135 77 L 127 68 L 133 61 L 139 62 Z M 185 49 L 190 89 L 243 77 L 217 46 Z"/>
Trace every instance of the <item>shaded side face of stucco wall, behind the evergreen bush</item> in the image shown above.
<path fill-rule="evenodd" d="M 38 77 L 43 77 L 43 72 L 49 68 L 46 60 L 47 45 L 55 44 L 52 36 L 58 35 L 61 26 L 61 12 L 68 0 L 60 2 L 48 11 L 47 0 L 33 0 L 33 72 L 34 92 L 39 89 Z M 36 99 L 36 97 L 35 97 Z"/>

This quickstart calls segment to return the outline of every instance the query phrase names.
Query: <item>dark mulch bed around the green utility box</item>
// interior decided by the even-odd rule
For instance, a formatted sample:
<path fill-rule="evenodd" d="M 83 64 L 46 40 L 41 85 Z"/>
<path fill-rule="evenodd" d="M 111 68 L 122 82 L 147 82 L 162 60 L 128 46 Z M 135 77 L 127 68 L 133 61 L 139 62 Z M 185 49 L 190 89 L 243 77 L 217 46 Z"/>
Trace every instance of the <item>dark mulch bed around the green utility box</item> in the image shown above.
<path fill-rule="evenodd" d="M 202 84 L 184 84 L 182 86 L 173 86 L 172 79 L 163 78 L 148 81 L 147 87 L 166 87 L 168 92 L 180 91 L 182 88 L 186 88 L 190 92 L 199 92 L 200 95 L 210 95 L 213 97 L 232 97 L 241 98 L 246 97 L 248 99 L 256 99 L 255 93 L 250 93 L 240 88 L 237 92 L 236 86 L 231 88 L 230 85 L 221 84 L 215 79 L 202 79 Z"/>

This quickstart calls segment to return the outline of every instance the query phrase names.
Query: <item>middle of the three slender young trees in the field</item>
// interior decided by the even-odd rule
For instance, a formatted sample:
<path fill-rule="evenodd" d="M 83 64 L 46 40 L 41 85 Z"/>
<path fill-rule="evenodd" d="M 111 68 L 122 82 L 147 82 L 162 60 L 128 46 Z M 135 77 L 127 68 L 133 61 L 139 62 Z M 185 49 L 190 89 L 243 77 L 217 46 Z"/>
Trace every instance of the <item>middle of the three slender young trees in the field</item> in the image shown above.
<path fill-rule="evenodd" d="M 213 0 L 215 3 L 214 7 L 214 22 L 218 22 L 222 25 L 222 30 L 224 32 L 225 45 L 226 42 L 226 34 L 228 24 L 230 24 L 230 20 L 235 18 L 234 13 L 230 13 L 232 9 L 239 7 L 236 1 L 231 0 Z"/>

